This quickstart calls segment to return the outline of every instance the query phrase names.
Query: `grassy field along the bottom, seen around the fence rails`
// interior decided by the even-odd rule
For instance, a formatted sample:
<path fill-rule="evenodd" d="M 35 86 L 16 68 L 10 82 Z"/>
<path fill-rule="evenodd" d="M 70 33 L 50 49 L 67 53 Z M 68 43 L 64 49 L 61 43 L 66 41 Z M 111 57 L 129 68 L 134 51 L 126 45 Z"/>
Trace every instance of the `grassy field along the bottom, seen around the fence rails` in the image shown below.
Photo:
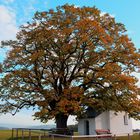
<path fill-rule="evenodd" d="M 19 136 L 21 136 L 21 132 L 19 132 Z M 29 132 L 24 132 L 25 136 L 28 137 Z M 11 130 L 0 130 L 0 140 L 11 140 L 12 132 Z M 42 134 L 43 135 L 43 134 Z M 34 131 L 32 132 L 32 139 L 31 140 L 39 140 L 39 132 Z M 17 140 L 17 139 L 16 139 Z M 19 138 L 18 140 L 22 140 Z M 29 138 L 26 138 L 25 140 L 29 140 Z M 41 137 L 40 140 L 53 140 L 51 137 Z M 55 137 L 54 140 L 71 140 L 71 138 L 62 138 L 62 137 Z M 73 140 L 94 140 L 93 138 L 74 138 Z M 103 139 L 102 139 L 103 140 Z M 113 138 L 114 140 L 114 138 Z M 117 137 L 116 140 L 128 140 L 128 137 Z M 140 140 L 139 134 L 134 134 L 131 136 L 131 140 Z"/>

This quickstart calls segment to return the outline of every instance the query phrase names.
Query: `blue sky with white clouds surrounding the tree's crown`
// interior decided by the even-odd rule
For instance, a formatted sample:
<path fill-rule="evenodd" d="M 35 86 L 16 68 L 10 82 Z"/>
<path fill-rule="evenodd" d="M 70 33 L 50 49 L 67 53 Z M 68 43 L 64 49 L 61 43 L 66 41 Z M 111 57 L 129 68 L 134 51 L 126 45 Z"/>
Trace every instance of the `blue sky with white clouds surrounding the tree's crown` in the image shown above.
<path fill-rule="evenodd" d="M 134 42 L 136 48 L 140 48 L 140 0 L 0 0 L 0 41 L 14 39 L 19 26 L 30 21 L 35 11 L 54 9 L 65 3 L 76 6 L 96 6 L 102 12 L 107 12 L 115 17 L 117 22 L 126 26 L 127 34 Z M 5 56 L 5 50 L 0 49 L 0 61 Z M 137 74 L 140 77 L 140 74 Z M 33 121 L 31 112 L 23 110 L 15 117 L 10 115 L 0 116 L 0 123 L 40 124 Z M 22 121 L 20 121 L 22 120 Z M 69 120 L 72 123 L 73 119 Z M 52 122 L 50 122 L 52 123 Z M 133 123 L 140 128 L 140 121 Z"/>

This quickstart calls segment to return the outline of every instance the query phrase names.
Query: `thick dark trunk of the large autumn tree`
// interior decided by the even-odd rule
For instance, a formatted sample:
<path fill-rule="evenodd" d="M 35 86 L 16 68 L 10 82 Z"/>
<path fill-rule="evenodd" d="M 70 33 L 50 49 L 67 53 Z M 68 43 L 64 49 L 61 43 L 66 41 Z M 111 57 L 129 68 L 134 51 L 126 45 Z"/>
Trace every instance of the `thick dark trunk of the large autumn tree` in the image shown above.
<path fill-rule="evenodd" d="M 56 128 L 67 128 L 68 116 L 64 114 L 58 114 L 56 117 Z"/>

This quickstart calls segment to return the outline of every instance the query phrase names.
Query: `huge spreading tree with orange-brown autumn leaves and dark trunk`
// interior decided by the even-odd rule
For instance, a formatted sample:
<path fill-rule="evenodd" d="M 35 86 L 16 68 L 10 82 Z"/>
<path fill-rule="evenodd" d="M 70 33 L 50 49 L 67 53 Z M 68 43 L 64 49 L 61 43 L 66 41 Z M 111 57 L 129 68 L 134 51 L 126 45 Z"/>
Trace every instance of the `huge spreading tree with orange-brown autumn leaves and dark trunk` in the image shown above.
<path fill-rule="evenodd" d="M 59 6 L 23 25 L 1 63 L 0 112 L 37 108 L 41 121 L 67 127 L 69 115 L 126 111 L 138 118 L 140 53 L 123 24 L 95 7 Z"/>

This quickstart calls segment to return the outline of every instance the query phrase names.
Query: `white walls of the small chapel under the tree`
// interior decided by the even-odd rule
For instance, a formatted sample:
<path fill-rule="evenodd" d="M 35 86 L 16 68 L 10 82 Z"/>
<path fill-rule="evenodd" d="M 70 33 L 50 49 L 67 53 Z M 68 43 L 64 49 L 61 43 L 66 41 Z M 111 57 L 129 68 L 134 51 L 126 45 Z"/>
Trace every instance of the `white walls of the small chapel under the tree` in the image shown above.
<path fill-rule="evenodd" d="M 93 118 L 82 118 L 78 121 L 80 135 L 96 135 L 96 129 L 109 129 L 114 135 L 132 134 L 132 120 L 127 113 L 113 111 L 103 112 Z"/>

